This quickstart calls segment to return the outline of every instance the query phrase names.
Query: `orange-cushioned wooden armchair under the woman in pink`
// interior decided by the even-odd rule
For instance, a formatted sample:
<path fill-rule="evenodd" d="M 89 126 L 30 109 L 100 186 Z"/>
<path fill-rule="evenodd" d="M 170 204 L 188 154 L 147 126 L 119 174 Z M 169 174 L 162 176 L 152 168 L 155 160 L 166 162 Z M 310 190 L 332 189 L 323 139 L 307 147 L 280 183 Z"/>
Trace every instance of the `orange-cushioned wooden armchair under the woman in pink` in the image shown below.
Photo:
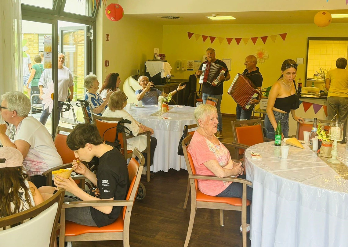
<path fill-rule="evenodd" d="M 193 165 L 193 160 L 190 153 L 187 151 L 187 147 L 191 141 L 191 135 L 188 135 L 182 141 L 182 149 L 184 151 L 185 162 L 187 165 L 187 171 L 189 173 L 190 187 L 191 187 L 191 214 L 190 222 L 187 230 L 187 236 L 185 240 L 184 247 L 187 247 L 191 238 L 193 223 L 195 221 L 195 214 L 197 208 L 211 208 L 211 209 L 220 209 L 220 224 L 224 225 L 223 219 L 223 210 L 234 210 L 242 212 L 242 234 L 243 234 L 243 247 L 246 247 L 246 206 L 251 204 L 250 200 L 246 199 L 246 186 L 251 185 L 252 183 L 245 179 L 240 178 L 218 178 L 216 176 L 208 175 L 197 175 L 195 166 Z M 217 197 L 217 196 L 208 196 L 203 194 L 198 188 L 197 179 L 207 179 L 207 180 L 221 180 L 221 181 L 231 181 L 234 183 L 243 184 L 243 197 L 234 198 L 234 197 Z"/>

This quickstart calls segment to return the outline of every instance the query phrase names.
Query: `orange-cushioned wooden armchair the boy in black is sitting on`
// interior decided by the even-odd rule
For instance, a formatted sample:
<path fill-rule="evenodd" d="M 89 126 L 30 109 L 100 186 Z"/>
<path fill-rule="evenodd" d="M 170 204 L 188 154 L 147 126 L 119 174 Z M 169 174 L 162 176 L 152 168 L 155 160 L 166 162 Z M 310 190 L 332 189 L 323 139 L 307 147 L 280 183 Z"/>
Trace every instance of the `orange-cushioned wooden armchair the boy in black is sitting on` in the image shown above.
<path fill-rule="evenodd" d="M 136 161 L 135 156 L 139 159 L 140 165 Z M 64 247 L 64 241 L 123 240 L 123 246 L 129 247 L 130 215 L 139 187 L 143 165 L 144 156 L 135 148 L 133 156 L 128 164 L 130 187 L 126 200 L 74 201 L 69 204 L 64 204 L 60 221 L 62 227 L 60 230 L 59 246 Z M 123 209 L 115 222 L 104 227 L 90 227 L 65 220 L 66 208 L 96 206 L 123 206 Z"/>

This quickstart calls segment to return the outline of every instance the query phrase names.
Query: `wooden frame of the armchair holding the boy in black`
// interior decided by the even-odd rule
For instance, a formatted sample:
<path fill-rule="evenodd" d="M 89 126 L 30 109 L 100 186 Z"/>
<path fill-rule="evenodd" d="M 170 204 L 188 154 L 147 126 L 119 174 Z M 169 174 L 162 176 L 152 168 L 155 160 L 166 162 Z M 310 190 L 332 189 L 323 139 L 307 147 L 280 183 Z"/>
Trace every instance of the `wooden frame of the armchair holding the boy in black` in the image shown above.
<path fill-rule="evenodd" d="M 129 200 L 104 200 L 104 201 L 73 201 L 69 204 L 64 204 L 62 207 L 61 213 L 61 234 L 59 247 L 64 247 L 65 241 L 100 241 L 100 240 L 123 240 L 123 246 L 129 247 L 129 224 L 130 224 L 130 215 L 132 213 L 133 205 L 135 202 L 135 195 L 138 191 L 141 172 L 144 166 L 144 156 L 137 150 L 134 149 L 133 157 L 139 158 L 140 166 L 136 173 L 136 179 L 134 187 L 131 191 Z M 133 199 L 134 198 L 134 199 Z M 65 236 L 65 209 L 66 208 L 76 208 L 76 207 L 95 207 L 95 206 L 124 206 L 126 207 L 126 214 L 124 218 L 124 228 L 123 232 L 89 232 L 80 234 L 77 236 Z M 119 217 L 122 217 L 121 215 Z M 98 227 L 96 227 L 98 228 Z"/>

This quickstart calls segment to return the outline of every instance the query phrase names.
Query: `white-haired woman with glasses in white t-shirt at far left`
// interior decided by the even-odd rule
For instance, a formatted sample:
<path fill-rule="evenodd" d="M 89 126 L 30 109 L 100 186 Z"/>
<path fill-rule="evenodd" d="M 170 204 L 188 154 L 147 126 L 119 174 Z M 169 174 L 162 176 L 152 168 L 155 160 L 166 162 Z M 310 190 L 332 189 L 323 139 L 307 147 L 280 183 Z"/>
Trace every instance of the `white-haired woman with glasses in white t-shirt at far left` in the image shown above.
<path fill-rule="evenodd" d="M 22 92 L 7 92 L 2 95 L 0 113 L 10 126 L 6 135 L 7 124 L 0 124 L 0 142 L 4 147 L 18 149 L 23 155 L 23 165 L 36 187 L 46 185 L 42 173 L 63 161 L 54 146 L 52 136 L 39 121 L 28 116 L 30 99 Z"/>

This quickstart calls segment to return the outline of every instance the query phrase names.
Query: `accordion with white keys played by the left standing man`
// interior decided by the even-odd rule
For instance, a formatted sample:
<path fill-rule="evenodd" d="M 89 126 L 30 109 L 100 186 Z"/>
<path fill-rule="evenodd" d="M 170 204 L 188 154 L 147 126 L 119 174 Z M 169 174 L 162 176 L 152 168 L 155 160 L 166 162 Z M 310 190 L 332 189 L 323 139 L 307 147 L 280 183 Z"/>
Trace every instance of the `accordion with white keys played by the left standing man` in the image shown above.
<path fill-rule="evenodd" d="M 219 76 L 225 74 L 227 69 L 219 64 L 207 62 L 203 64 L 202 71 L 203 73 L 200 75 L 199 84 L 206 82 L 217 87 L 222 83 L 219 81 Z"/>

